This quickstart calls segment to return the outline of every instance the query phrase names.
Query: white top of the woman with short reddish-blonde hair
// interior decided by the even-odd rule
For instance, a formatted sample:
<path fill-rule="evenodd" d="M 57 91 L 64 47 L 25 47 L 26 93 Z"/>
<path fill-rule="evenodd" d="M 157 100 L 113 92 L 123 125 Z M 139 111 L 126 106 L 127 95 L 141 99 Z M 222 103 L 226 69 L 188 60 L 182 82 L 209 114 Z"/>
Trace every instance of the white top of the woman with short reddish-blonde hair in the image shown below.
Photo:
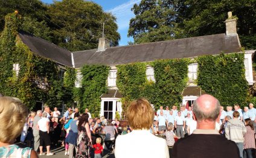
<path fill-rule="evenodd" d="M 149 130 L 133 130 L 131 133 L 117 136 L 115 157 L 168 158 L 170 156 L 165 139 L 154 136 Z"/>

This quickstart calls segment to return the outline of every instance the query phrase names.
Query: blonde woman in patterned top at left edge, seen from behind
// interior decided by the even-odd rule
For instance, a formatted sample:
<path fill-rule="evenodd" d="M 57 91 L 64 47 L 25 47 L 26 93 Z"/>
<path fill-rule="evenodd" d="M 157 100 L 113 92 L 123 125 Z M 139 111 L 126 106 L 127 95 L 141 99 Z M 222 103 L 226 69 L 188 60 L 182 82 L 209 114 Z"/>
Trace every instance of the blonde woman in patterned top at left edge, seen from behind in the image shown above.
<path fill-rule="evenodd" d="M 38 157 L 32 148 L 21 148 L 14 144 L 27 116 L 27 107 L 18 98 L 0 97 L 0 157 Z"/>

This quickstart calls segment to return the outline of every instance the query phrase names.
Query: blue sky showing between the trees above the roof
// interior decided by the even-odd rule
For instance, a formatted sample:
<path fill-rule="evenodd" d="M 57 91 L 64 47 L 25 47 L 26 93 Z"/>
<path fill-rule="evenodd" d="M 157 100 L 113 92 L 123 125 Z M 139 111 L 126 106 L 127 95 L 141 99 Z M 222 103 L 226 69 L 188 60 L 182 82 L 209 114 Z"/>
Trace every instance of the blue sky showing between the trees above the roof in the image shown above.
<path fill-rule="evenodd" d="M 91 0 L 100 4 L 103 7 L 104 11 L 110 12 L 117 17 L 117 24 L 118 24 L 118 32 L 121 35 L 121 40 L 119 42 L 120 46 L 127 45 L 127 42 L 132 41 L 133 38 L 127 37 L 128 29 L 129 29 L 129 22 L 132 17 L 135 15 L 130 10 L 133 5 L 139 4 L 141 0 Z M 47 4 L 53 3 L 53 0 L 42 0 Z"/>

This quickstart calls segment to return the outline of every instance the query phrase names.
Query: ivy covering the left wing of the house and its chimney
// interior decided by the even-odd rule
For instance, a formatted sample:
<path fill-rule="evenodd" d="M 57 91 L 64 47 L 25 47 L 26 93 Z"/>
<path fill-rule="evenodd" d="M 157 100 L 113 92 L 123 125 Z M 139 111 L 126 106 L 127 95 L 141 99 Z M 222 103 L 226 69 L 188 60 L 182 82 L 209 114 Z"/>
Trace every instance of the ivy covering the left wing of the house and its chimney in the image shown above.
<path fill-rule="evenodd" d="M 0 89 L 7 96 L 16 96 L 26 104 L 30 110 L 34 109 L 36 101 L 43 101 L 50 107 L 59 107 L 62 102 L 68 103 L 70 98 L 68 89 L 74 77 L 67 77 L 65 86 L 58 78 L 58 68 L 50 59 L 39 57 L 22 43 L 18 36 L 21 16 L 8 14 L 5 18 L 5 28 L 1 36 L 0 45 Z M 19 74 L 13 73 L 13 64 L 19 64 Z M 70 70 L 69 70 L 70 69 Z M 71 71 L 71 68 L 68 72 Z M 72 75 L 69 75 L 72 76 Z M 37 86 L 35 81 L 48 83 L 45 89 Z M 72 97 L 71 97 L 72 98 Z"/>

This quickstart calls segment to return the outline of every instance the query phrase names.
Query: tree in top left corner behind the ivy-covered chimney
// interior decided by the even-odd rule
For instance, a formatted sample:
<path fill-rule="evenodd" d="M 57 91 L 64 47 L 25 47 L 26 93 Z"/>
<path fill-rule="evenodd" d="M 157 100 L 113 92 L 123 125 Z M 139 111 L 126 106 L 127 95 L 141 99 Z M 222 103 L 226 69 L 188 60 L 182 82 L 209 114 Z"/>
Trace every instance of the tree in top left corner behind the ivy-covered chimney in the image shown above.
<path fill-rule="evenodd" d="M 39 0 L 5 0 L 0 1 L 0 32 L 4 29 L 4 17 L 17 10 L 22 17 L 21 30 L 34 34 L 37 37 L 51 41 L 51 30 L 46 23 L 47 10 Z"/>

